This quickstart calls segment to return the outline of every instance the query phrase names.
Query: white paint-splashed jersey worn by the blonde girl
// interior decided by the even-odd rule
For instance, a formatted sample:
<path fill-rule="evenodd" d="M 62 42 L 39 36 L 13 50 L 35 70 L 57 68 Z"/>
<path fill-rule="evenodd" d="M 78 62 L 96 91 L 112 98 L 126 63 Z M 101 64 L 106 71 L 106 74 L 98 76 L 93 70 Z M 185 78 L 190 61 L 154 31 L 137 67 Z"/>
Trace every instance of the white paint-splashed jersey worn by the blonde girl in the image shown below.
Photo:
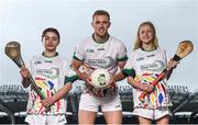
<path fill-rule="evenodd" d="M 139 48 L 130 55 L 123 72 L 133 75 L 139 83 L 151 83 L 166 66 L 166 53 L 161 47 L 152 52 L 145 52 Z M 157 83 L 154 87 L 154 91 L 146 94 L 143 102 L 139 99 L 142 92 L 142 90 L 133 88 L 134 107 L 158 109 L 170 105 L 170 99 L 166 90 L 166 80 Z"/>

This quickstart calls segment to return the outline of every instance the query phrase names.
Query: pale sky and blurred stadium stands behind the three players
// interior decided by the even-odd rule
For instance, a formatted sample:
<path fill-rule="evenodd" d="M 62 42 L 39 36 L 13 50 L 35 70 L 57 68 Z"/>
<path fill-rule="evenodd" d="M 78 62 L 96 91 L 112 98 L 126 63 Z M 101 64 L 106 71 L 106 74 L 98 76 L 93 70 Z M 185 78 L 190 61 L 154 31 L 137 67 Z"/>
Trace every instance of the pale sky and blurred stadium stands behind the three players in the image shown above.
<path fill-rule="evenodd" d="M 23 59 L 29 64 L 33 55 L 43 50 L 43 30 L 53 26 L 61 33 L 59 54 L 72 59 L 75 46 L 92 34 L 91 16 L 98 9 L 110 13 L 109 33 L 125 44 L 129 54 L 138 27 L 144 21 L 154 23 L 160 46 L 166 49 L 168 57 L 175 54 L 179 42 L 189 39 L 194 43 L 194 52 L 180 61 L 168 84 L 174 102 L 172 123 L 187 123 L 197 118 L 197 0 L 0 0 L 0 107 L 3 109 L 0 122 L 9 121 L 7 113 L 3 113 L 8 111 L 11 117 L 23 123 L 28 99 L 28 90 L 21 87 L 19 68 L 4 55 L 6 44 L 20 42 Z M 77 81 L 69 93 L 67 117 L 72 123 L 77 122 L 75 115 L 80 83 Z M 131 87 L 125 80 L 119 84 L 124 122 L 136 123 L 132 114 Z M 100 113 L 98 118 L 103 120 Z"/>

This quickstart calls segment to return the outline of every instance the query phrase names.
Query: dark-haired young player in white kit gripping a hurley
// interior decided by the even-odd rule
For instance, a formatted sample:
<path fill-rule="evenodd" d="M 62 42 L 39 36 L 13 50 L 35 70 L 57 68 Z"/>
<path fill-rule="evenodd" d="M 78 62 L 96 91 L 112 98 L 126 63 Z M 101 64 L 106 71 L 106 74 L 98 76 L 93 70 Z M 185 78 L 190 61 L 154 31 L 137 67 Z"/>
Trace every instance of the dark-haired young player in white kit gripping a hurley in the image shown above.
<path fill-rule="evenodd" d="M 61 36 L 56 29 L 48 27 L 44 30 L 42 34 L 44 52 L 31 59 L 30 71 L 25 67 L 20 71 L 23 78 L 23 87 L 31 86 L 29 76 L 32 75 L 36 86 L 42 89 L 42 93 L 47 98 L 42 101 L 41 96 L 31 87 L 25 118 L 25 122 L 31 125 L 64 125 L 66 123 L 66 100 L 64 95 L 72 89 L 72 84 L 64 86 L 69 64 L 56 52 L 59 39 Z M 59 100 L 51 98 L 61 88 L 65 91 L 58 96 Z M 51 102 L 47 101 L 48 99 L 52 99 Z M 50 111 L 46 111 L 45 107 L 48 105 L 51 105 Z"/>

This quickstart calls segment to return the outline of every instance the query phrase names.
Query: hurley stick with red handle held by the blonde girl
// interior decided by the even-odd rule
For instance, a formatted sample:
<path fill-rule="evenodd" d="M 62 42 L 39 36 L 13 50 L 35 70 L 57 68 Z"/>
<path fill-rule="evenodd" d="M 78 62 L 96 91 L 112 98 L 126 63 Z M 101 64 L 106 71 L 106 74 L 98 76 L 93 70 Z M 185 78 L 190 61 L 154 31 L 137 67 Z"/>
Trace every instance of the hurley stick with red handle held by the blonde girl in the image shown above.
<path fill-rule="evenodd" d="M 194 44 L 190 41 L 180 42 L 173 60 L 174 61 L 182 60 L 184 57 L 189 55 L 193 52 L 193 49 L 194 49 Z M 173 67 L 167 67 L 166 69 L 164 69 L 151 84 L 156 86 L 162 79 L 166 78 L 166 75 L 168 75 L 172 69 Z M 146 94 L 147 92 L 144 91 L 139 96 L 139 99 L 143 102 Z"/>

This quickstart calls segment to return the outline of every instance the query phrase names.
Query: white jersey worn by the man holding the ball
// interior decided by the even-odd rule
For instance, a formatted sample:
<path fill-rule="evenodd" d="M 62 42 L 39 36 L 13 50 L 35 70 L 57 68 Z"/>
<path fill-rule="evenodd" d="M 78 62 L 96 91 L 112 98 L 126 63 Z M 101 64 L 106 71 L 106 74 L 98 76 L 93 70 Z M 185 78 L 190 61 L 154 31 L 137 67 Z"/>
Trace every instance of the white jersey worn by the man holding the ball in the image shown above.
<path fill-rule="evenodd" d="M 96 43 L 92 37 L 88 37 L 77 45 L 74 58 L 85 63 L 87 71 L 99 68 L 108 69 L 110 73 L 117 73 L 118 61 L 128 59 L 127 49 L 122 42 L 113 36 L 109 36 L 103 44 Z M 84 93 L 97 96 L 112 96 L 118 92 L 117 86 L 109 89 L 96 89 L 88 83 L 85 84 Z"/>

